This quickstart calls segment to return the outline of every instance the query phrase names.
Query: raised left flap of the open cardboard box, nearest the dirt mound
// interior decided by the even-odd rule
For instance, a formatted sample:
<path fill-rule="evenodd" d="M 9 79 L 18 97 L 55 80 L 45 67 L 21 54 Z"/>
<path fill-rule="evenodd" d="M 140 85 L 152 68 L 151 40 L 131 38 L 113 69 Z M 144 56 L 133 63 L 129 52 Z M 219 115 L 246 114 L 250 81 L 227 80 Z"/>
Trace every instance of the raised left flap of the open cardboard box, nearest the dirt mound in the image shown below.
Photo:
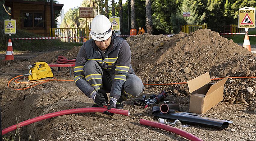
<path fill-rule="evenodd" d="M 195 90 L 203 87 L 204 85 L 211 82 L 211 77 L 209 75 L 209 72 L 206 72 L 203 75 L 198 76 L 197 78 L 194 78 L 192 80 L 189 80 L 188 86 L 189 86 L 189 93 L 194 92 Z"/>

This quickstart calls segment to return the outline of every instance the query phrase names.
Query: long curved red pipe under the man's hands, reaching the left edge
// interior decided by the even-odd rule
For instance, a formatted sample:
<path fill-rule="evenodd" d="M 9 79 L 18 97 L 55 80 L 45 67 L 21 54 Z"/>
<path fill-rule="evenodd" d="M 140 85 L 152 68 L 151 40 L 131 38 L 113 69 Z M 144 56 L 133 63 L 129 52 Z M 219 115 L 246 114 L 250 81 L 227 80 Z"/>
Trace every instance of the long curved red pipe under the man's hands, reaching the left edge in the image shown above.
<path fill-rule="evenodd" d="M 120 115 L 124 115 L 124 116 L 130 116 L 130 111 L 127 110 L 121 110 L 121 109 L 115 109 L 112 108 L 110 110 L 107 110 L 106 108 L 95 108 L 95 107 L 90 107 L 90 108 L 77 108 L 77 109 L 69 109 L 69 110 L 63 110 L 63 111 L 58 111 L 58 112 L 54 112 L 54 113 L 48 113 L 46 115 L 42 115 L 42 116 L 38 116 L 35 117 L 33 119 L 29 119 L 29 120 L 25 120 L 23 122 L 20 122 L 18 124 L 12 125 L 8 128 L 5 128 L 2 130 L 2 135 L 14 131 L 22 126 L 26 126 L 35 122 L 39 122 L 41 120 L 44 119 L 49 119 L 52 117 L 57 117 L 57 116 L 62 116 L 62 115 L 69 115 L 69 114 L 76 114 L 76 113 L 95 113 L 95 112 L 99 112 L 102 113 L 104 111 L 109 111 L 111 113 L 114 114 L 120 114 Z"/>

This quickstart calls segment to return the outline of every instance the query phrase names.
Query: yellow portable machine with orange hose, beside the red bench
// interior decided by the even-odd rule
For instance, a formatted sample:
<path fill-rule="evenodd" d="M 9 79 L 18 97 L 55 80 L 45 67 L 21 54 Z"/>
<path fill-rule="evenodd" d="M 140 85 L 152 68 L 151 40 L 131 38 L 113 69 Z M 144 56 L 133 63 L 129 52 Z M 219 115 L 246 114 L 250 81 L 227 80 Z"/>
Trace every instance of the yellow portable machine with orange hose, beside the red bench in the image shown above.
<path fill-rule="evenodd" d="M 39 80 L 42 78 L 53 77 L 52 70 L 46 62 L 36 62 L 29 65 L 28 80 Z"/>

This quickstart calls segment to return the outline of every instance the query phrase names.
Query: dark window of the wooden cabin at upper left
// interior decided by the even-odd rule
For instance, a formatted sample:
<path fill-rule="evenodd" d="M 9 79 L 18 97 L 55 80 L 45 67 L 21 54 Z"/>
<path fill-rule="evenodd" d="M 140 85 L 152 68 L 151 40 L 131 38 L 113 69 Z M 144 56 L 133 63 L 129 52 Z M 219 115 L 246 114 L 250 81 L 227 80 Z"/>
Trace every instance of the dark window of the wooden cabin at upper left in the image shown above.
<path fill-rule="evenodd" d="M 24 28 L 44 28 L 43 12 L 23 12 L 22 19 Z"/>

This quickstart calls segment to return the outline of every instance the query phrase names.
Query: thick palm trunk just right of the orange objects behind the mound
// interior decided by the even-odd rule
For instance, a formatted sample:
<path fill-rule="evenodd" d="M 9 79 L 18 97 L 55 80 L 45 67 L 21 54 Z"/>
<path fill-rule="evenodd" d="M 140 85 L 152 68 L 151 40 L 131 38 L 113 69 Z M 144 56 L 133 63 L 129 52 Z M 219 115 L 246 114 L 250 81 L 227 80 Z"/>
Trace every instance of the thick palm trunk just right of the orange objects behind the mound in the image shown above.
<path fill-rule="evenodd" d="M 153 34 L 151 0 L 146 0 L 146 28 L 149 34 Z"/>

